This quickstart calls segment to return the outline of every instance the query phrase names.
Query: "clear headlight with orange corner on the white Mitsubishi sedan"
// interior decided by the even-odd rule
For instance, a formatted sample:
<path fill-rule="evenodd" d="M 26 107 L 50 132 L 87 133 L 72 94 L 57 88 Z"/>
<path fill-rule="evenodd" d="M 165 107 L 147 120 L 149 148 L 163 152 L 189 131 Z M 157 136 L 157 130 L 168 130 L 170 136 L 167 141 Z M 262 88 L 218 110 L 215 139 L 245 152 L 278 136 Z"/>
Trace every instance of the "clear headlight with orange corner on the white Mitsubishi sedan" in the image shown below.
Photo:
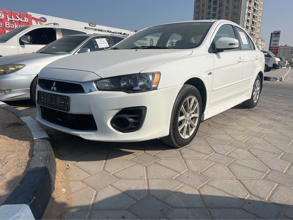
<path fill-rule="evenodd" d="M 160 72 L 122 75 L 95 81 L 98 90 L 124 91 L 127 93 L 157 89 Z"/>

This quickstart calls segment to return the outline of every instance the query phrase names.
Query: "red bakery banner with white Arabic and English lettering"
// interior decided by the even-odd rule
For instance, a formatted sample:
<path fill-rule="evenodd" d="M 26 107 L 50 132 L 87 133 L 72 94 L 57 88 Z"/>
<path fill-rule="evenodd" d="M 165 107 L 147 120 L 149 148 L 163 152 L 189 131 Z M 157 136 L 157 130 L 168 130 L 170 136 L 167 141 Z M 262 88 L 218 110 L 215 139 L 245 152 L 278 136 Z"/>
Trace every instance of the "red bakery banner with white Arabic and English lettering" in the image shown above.
<path fill-rule="evenodd" d="M 0 9 L 0 35 L 27 25 L 32 25 L 30 14 Z"/>

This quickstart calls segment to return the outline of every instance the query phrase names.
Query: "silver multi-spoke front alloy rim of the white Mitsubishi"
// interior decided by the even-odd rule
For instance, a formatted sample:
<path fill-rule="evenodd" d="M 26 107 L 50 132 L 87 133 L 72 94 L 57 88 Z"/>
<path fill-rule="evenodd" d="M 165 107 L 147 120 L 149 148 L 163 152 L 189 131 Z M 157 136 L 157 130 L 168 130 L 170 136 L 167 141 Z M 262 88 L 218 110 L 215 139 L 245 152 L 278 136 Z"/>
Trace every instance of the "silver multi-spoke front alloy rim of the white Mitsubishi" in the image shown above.
<path fill-rule="evenodd" d="M 179 111 L 178 131 L 181 138 L 189 138 L 195 131 L 199 117 L 199 104 L 194 96 L 187 97 Z"/>

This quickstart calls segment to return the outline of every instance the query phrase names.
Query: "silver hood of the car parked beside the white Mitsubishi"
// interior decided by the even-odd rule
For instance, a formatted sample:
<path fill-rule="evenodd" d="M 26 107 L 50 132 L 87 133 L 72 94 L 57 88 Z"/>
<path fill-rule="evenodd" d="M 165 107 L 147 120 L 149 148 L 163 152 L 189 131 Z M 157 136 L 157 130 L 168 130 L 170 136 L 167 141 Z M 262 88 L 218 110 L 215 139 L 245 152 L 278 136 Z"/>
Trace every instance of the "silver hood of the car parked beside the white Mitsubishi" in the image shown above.
<path fill-rule="evenodd" d="M 64 56 L 64 54 L 62 54 Z M 0 58 L 0 66 L 7 65 L 7 64 L 23 64 L 24 61 L 38 59 L 38 58 L 49 58 L 49 57 L 56 57 L 60 56 L 59 54 L 45 54 L 45 53 L 22 53 L 22 54 L 15 54 L 4 56 Z M 61 57 L 59 57 L 61 58 Z"/>

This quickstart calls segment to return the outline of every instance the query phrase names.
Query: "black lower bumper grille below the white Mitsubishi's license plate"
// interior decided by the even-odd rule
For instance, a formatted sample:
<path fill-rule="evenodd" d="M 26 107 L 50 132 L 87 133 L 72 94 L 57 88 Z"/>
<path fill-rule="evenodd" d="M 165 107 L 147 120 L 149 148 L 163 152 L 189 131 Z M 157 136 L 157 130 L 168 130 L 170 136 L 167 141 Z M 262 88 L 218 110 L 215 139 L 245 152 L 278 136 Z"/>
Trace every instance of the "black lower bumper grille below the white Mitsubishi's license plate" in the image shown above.
<path fill-rule="evenodd" d="M 94 131 L 97 125 L 93 115 L 70 114 L 40 106 L 42 119 L 72 130 Z"/>

